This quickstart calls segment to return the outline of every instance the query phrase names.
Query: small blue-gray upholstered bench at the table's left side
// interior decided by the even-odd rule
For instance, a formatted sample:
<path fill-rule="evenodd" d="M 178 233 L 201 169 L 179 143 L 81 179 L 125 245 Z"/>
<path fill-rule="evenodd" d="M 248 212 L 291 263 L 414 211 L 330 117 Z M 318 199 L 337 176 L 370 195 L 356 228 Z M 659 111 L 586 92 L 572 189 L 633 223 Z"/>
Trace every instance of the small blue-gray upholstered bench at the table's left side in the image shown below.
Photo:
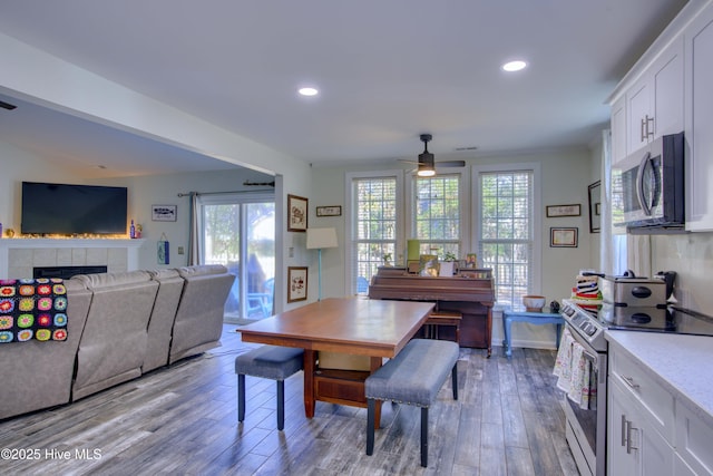
<path fill-rule="evenodd" d="M 245 376 L 277 381 L 277 429 L 285 424 L 285 379 L 302 370 L 302 349 L 262 346 L 235 358 L 237 373 L 237 420 L 245 419 Z"/>

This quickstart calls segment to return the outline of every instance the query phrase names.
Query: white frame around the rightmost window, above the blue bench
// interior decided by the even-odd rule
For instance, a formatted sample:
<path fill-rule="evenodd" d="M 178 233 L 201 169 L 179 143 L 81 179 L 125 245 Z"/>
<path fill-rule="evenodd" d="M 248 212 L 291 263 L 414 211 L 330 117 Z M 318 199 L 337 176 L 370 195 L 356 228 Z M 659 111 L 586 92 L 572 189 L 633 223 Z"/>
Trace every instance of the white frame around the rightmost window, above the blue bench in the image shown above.
<path fill-rule="evenodd" d="M 531 217 L 531 232 L 533 232 L 533 252 L 530 263 L 530 293 L 541 293 L 541 261 L 543 261 L 543 212 L 541 212 L 541 174 L 540 164 L 536 162 L 527 163 L 511 163 L 511 164 L 492 164 L 492 165 L 473 165 L 471 173 L 471 203 L 472 203 L 472 231 L 471 231 L 471 247 L 473 250 L 480 249 L 480 230 L 482 227 L 482 216 L 480 212 L 480 175 L 484 173 L 498 173 L 498 172 L 533 172 L 533 217 Z M 501 309 L 501 305 L 496 303 L 496 309 Z"/>

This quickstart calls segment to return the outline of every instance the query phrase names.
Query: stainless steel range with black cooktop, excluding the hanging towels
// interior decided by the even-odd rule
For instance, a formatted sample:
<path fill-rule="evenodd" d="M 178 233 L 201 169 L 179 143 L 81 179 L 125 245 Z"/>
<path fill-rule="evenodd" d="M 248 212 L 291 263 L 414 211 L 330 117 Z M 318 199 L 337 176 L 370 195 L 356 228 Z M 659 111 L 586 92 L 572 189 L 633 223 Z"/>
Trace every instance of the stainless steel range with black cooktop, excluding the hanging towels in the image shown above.
<path fill-rule="evenodd" d="M 713 319 L 665 304 L 633 307 L 605 302 L 598 310 L 589 311 L 570 300 L 563 301 L 560 312 L 573 338 L 583 346 L 584 353 L 592 361 L 597 382 L 596 408 L 584 410 L 565 397 L 567 443 L 580 474 L 605 475 L 608 371 L 605 331 L 611 329 L 713 336 Z"/>

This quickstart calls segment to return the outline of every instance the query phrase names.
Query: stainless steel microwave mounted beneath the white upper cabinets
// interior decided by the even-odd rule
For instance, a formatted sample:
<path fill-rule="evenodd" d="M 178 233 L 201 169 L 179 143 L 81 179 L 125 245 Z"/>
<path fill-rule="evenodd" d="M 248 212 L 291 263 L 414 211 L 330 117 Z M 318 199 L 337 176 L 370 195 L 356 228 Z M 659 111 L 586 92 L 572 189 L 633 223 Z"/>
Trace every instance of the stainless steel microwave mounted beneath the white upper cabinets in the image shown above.
<path fill-rule="evenodd" d="M 612 165 L 612 223 L 683 227 L 683 133 L 664 135 Z"/>

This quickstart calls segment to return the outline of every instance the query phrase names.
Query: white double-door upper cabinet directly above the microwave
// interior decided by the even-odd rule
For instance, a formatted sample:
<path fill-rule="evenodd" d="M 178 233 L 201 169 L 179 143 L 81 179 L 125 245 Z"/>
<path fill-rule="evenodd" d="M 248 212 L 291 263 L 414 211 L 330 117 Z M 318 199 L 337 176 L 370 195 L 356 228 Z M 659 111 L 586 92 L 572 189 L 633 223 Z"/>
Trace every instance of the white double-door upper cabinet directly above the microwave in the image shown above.
<path fill-rule="evenodd" d="M 626 93 L 628 154 L 684 128 L 683 38 L 674 39 Z"/>

